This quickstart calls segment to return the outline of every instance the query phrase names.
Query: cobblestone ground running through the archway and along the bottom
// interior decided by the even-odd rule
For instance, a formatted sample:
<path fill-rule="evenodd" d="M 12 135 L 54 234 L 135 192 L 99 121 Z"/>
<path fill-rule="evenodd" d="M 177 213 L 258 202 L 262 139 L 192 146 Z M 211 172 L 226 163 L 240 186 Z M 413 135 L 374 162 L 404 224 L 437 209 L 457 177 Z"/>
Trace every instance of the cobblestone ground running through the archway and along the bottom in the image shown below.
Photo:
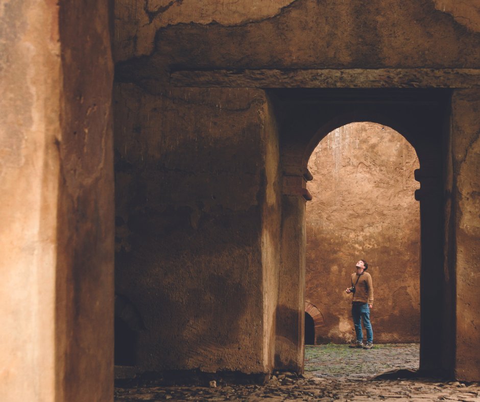
<path fill-rule="evenodd" d="M 395 368 L 416 369 L 419 347 L 375 345 L 371 350 L 347 345 L 305 347 L 305 375 L 277 373 L 266 385 L 211 384 L 210 387 L 115 388 L 115 401 L 159 400 L 463 400 L 480 402 L 480 384 L 427 379 L 373 380 Z"/>

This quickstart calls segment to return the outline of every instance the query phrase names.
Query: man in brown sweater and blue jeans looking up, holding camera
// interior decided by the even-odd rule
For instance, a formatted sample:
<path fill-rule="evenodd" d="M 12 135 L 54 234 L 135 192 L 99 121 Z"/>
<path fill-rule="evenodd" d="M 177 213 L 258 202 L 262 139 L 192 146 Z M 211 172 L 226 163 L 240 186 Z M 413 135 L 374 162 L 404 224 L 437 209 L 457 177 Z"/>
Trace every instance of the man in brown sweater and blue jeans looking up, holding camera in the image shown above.
<path fill-rule="evenodd" d="M 355 265 L 356 272 L 352 273 L 352 287 L 347 288 L 347 294 L 353 294 L 352 318 L 355 327 L 356 342 L 350 347 L 371 349 L 373 347 L 373 330 L 370 322 L 370 309 L 373 307 L 372 277 L 368 272 L 367 261 L 360 260 Z M 367 331 L 367 344 L 363 344 L 362 321 Z"/>

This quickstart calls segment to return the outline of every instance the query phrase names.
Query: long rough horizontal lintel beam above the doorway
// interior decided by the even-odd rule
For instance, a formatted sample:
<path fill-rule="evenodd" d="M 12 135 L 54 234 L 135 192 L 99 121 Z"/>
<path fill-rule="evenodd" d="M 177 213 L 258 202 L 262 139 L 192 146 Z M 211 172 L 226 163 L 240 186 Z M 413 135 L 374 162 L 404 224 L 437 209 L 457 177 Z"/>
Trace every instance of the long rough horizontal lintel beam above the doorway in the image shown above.
<path fill-rule="evenodd" d="M 476 68 L 379 69 L 217 69 L 177 70 L 175 87 L 236 88 L 474 88 L 480 87 Z"/>

